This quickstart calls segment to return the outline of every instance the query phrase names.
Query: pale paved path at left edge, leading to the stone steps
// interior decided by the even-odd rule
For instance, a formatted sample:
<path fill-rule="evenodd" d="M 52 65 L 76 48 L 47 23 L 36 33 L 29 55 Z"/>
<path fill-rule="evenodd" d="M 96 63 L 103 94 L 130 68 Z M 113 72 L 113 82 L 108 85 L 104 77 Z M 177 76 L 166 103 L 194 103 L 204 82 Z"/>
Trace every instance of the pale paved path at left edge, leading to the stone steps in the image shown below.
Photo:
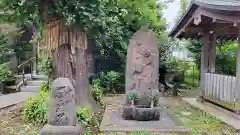
<path fill-rule="evenodd" d="M 9 107 L 27 100 L 29 96 L 36 95 L 36 92 L 17 92 L 0 97 L 0 109 Z"/>

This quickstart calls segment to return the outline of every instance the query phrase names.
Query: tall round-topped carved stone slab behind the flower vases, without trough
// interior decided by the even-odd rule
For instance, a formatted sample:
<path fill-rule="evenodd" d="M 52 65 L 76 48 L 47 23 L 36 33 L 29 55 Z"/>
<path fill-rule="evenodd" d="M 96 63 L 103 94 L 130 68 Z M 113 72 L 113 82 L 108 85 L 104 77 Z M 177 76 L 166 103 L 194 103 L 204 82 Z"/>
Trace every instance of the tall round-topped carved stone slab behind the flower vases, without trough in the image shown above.
<path fill-rule="evenodd" d="M 158 89 L 159 51 L 153 31 L 140 29 L 130 41 L 125 92 L 138 91 L 137 104 L 149 105 L 147 95 Z"/>

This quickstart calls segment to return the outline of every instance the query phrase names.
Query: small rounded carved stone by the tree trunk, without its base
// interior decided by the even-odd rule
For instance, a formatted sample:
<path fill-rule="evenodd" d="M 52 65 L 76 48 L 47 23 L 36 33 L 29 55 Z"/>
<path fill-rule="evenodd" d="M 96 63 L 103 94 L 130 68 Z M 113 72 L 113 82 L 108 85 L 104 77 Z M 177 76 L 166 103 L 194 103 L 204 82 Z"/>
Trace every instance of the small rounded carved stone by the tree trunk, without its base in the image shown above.
<path fill-rule="evenodd" d="M 49 124 L 76 125 L 74 88 L 66 78 L 58 78 L 52 84 Z"/>

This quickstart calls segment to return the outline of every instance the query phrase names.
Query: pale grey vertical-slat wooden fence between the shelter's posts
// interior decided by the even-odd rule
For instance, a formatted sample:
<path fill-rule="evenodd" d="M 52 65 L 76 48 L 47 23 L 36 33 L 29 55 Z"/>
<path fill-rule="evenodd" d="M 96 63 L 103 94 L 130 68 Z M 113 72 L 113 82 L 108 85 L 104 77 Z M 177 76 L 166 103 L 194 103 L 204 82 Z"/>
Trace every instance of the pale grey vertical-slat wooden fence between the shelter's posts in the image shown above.
<path fill-rule="evenodd" d="M 232 76 L 205 74 L 204 98 L 230 109 L 235 107 L 236 78 Z"/>

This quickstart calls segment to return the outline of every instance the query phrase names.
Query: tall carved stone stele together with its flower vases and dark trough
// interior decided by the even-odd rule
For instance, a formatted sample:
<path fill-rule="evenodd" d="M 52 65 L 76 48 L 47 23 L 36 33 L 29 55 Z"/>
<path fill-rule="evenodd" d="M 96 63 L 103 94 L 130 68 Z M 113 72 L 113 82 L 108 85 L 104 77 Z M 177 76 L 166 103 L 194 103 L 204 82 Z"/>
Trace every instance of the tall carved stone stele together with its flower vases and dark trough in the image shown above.
<path fill-rule="evenodd" d="M 124 119 L 159 120 L 158 69 L 159 50 L 154 32 L 141 28 L 128 46 Z"/>

